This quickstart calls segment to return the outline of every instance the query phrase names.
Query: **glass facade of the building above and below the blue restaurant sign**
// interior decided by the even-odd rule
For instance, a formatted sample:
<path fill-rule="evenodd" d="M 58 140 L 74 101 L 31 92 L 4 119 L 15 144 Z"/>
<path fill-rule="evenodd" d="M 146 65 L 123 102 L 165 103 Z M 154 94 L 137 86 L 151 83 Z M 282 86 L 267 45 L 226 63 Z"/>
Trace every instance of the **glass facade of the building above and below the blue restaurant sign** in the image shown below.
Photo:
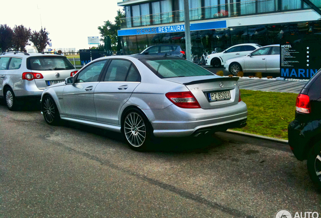
<path fill-rule="evenodd" d="M 132 2 L 132 1 L 131 1 Z M 321 7 L 320 0 L 311 0 Z M 300 16 L 308 10 L 301 0 L 189 0 L 190 20 L 208 22 L 210 20 L 229 21 L 250 17 L 255 23 L 255 15 L 264 16 L 289 13 L 289 16 Z M 145 1 L 125 6 L 126 18 L 122 20 L 122 29 L 140 27 L 157 27 L 165 24 L 175 25 L 184 22 L 183 0 Z M 291 15 L 291 12 L 296 14 Z M 313 13 L 313 12 L 312 12 Z M 296 42 L 306 35 L 320 35 L 320 21 L 306 21 L 302 16 L 300 22 L 285 23 L 280 20 L 269 24 L 227 26 L 207 30 L 191 31 L 192 52 L 201 53 L 204 49 L 224 50 L 240 43 L 257 43 L 259 45 Z M 138 53 L 148 46 L 159 43 L 180 44 L 185 48 L 185 33 L 157 33 L 122 36 L 125 53 Z"/>

